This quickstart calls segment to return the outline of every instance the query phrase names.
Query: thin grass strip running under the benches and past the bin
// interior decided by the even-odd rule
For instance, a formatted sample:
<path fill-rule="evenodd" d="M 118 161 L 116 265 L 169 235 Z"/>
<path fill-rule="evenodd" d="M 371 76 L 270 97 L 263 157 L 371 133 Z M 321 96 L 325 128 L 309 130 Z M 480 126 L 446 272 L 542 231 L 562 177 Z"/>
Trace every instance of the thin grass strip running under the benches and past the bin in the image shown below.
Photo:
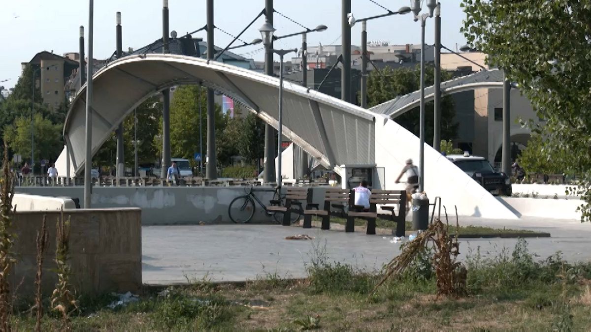
<path fill-rule="evenodd" d="M 320 222 L 320 218 L 313 218 L 314 221 Z M 345 224 L 346 219 L 344 218 L 330 218 L 331 223 L 337 224 Z M 355 226 L 356 227 L 365 227 L 367 224 L 366 220 L 364 219 L 355 219 Z M 395 227 L 395 224 L 389 220 L 385 219 L 376 219 L 376 228 L 378 229 L 392 229 Z M 406 222 L 405 229 L 407 231 L 413 230 L 413 223 Z M 543 233 L 534 232 L 533 230 L 527 229 L 508 229 L 508 228 L 493 228 L 493 227 L 486 227 L 486 226 L 460 226 L 458 229 L 455 225 L 449 225 L 449 233 L 455 235 L 459 231 L 459 235 L 476 235 L 476 236 L 498 236 L 498 235 L 541 235 Z"/>

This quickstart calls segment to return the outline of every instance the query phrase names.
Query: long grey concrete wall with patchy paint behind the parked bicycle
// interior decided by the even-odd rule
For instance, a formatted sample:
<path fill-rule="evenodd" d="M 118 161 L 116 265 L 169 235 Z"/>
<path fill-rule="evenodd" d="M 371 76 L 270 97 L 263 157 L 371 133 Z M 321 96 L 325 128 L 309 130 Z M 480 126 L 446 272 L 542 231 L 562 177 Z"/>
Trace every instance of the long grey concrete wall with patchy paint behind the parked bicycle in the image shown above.
<path fill-rule="evenodd" d="M 228 206 L 233 198 L 245 195 L 250 187 L 93 187 L 92 207 L 96 209 L 139 207 L 142 224 L 231 223 Z M 261 187 L 262 188 L 262 187 Z M 269 189 L 270 187 L 267 187 Z M 19 187 L 18 193 L 42 196 L 78 197 L 82 187 Z M 317 203 L 322 193 L 314 194 Z M 273 193 L 257 192 L 262 203 L 269 204 Z M 255 203 L 252 222 L 272 222 Z"/>

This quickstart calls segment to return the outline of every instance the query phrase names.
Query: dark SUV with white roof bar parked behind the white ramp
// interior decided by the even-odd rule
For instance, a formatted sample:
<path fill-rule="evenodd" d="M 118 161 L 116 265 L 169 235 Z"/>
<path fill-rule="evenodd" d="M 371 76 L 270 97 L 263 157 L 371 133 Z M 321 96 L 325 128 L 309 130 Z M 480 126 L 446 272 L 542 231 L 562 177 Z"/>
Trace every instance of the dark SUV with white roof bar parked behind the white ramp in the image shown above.
<path fill-rule="evenodd" d="M 448 155 L 447 159 L 452 161 L 474 181 L 478 182 L 493 195 L 511 196 L 511 178 L 503 172 L 497 172 L 491 164 L 483 157 L 472 155 Z"/>

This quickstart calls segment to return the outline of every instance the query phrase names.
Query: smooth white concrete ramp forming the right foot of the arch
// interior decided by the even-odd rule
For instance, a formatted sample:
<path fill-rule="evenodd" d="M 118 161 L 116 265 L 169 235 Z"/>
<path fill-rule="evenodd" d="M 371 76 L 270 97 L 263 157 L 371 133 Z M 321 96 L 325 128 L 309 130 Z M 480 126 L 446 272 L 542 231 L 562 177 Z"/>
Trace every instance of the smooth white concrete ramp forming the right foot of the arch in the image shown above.
<path fill-rule="evenodd" d="M 388 116 L 376 116 L 375 126 L 376 166 L 384 168 L 384 178 L 380 179 L 382 187 L 387 190 L 401 189 L 401 185 L 394 181 L 404 167 L 405 160 L 412 158 L 414 164 L 418 165 L 419 138 Z M 401 181 L 405 180 L 401 178 Z M 425 144 L 425 191 L 431 201 L 440 196 L 441 204 L 446 206 L 447 213 L 452 216 L 454 206 L 457 206 L 460 216 L 519 218 L 428 144 Z"/>

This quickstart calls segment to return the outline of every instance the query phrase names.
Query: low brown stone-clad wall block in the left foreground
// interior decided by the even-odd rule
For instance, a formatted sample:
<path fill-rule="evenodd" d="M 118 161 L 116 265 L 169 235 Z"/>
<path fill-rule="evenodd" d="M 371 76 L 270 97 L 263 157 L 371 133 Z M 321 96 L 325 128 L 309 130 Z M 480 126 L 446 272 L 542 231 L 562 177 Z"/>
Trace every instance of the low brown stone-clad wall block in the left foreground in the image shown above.
<path fill-rule="evenodd" d="M 137 292 L 142 285 L 141 219 L 139 209 L 64 210 L 70 216 L 70 266 L 72 285 L 78 294 Z M 21 298 L 33 294 L 37 271 L 35 238 L 46 217 L 49 246 L 43 263 L 44 296 L 55 287 L 57 276 L 52 269 L 56 253 L 56 222 L 59 211 L 17 212 L 13 219 L 17 264 L 11 285 Z M 21 283 L 22 282 L 22 283 Z"/>

